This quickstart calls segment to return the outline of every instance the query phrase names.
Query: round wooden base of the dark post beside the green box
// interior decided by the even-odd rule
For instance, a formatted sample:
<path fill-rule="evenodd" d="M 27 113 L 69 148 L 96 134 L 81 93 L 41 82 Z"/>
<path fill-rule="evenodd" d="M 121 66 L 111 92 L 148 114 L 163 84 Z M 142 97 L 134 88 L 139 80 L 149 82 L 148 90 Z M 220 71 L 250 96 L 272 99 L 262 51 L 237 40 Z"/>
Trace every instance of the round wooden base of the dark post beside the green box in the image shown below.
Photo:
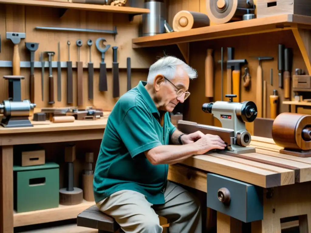
<path fill-rule="evenodd" d="M 77 205 L 83 201 L 83 191 L 74 187 L 73 191 L 67 191 L 67 188 L 59 190 L 60 205 Z"/>

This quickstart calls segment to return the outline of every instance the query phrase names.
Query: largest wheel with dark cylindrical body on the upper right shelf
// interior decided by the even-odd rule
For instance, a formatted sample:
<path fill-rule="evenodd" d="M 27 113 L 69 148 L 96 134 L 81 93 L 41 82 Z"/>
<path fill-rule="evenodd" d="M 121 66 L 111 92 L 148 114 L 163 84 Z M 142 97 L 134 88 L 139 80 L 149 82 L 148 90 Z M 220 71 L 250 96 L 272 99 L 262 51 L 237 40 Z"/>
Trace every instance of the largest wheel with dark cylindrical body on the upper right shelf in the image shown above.
<path fill-rule="evenodd" d="M 207 16 L 214 24 L 242 20 L 246 8 L 253 7 L 253 0 L 207 0 Z M 242 9 L 244 8 L 244 9 Z"/>

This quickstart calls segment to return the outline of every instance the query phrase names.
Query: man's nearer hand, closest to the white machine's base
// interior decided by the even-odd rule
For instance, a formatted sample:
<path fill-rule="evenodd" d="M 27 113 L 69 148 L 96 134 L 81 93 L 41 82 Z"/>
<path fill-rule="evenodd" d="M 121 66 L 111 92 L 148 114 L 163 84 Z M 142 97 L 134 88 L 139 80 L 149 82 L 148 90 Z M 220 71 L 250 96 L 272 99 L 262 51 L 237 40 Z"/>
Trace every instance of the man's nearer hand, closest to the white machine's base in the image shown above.
<path fill-rule="evenodd" d="M 211 134 L 204 135 L 194 144 L 198 148 L 197 154 L 204 154 L 212 149 L 223 150 L 226 147 L 225 142 L 218 135 Z"/>

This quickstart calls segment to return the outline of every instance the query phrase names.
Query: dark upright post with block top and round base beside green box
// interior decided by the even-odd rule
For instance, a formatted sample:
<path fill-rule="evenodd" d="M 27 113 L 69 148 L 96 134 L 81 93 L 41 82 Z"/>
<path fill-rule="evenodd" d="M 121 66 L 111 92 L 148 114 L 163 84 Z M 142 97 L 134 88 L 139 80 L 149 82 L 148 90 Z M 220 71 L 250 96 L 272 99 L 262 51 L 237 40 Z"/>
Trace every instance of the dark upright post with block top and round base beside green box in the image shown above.
<path fill-rule="evenodd" d="M 65 162 L 68 164 L 68 186 L 59 190 L 59 204 L 77 205 L 83 201 L 83 191 L 73 187 L 73 162 L 76 160 L 76 146 L 65 147 Z"/>

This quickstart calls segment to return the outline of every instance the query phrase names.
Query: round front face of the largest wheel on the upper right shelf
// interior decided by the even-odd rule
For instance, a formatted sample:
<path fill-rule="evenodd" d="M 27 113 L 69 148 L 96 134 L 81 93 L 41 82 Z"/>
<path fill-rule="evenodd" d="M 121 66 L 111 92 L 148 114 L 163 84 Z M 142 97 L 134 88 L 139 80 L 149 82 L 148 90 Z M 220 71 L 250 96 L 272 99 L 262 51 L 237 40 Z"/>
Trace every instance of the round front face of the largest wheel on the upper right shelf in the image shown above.
<path fill-rule="evenodd" d="M 214 24 L 229 22 L 238 7 L 238 0 L 206 0 L 207 16 Z"/>

